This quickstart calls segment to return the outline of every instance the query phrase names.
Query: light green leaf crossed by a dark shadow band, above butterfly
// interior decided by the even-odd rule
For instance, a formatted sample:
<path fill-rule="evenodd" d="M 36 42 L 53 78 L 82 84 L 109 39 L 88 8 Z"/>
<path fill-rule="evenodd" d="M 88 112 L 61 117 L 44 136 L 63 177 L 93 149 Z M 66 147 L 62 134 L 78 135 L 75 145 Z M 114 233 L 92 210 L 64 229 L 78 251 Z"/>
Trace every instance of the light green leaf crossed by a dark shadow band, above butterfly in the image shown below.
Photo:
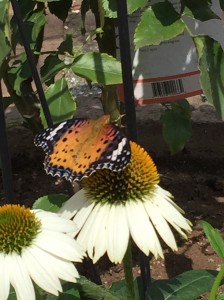
<path fill-rule="evenodd" d="M 88 52 L 77 56 L 72 71 L 92 82 L 118 84 L 122 82 L 121 64 L 105 53 Z"/>

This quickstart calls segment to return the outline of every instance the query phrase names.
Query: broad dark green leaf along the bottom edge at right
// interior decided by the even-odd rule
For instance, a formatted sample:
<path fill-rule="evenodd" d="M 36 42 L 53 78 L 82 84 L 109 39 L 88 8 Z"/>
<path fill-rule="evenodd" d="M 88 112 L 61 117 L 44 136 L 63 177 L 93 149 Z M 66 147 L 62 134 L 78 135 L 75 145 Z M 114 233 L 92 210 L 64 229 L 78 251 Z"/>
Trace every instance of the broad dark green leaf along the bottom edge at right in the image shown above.
<path fill-rule="evenodd" d="M 167 280 L 152 282 L 147 300 L 193 300 L 210 291 L 217 271 L 191 270 Z"/>

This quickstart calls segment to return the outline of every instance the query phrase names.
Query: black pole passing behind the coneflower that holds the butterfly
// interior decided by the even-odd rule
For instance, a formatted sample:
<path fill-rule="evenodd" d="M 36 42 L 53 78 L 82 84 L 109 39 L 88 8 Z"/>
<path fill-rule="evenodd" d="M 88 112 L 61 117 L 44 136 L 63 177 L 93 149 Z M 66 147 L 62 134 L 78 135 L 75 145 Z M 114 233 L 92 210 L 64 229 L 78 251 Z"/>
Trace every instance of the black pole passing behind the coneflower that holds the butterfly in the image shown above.
<path fill-rule="evenodd" d="M 130 52 L 129 26 L 127 1 L 117 0 L 117 18 L 119 30 L 120 43 L 120 57 L 123 77 L 123 89 L 125 98 L 125 114 L 127 122 L 128 137 L 132 141 L 137 141 L 137 127 L 136 127 L 136 111 L 134 101 L 134 88 L 132 78 L 132 61 Z M 149 258 L 140 251 L 140 269 L 143 287 L 142 299 L 145 299 L 145 292 L 150 285 L 150 266 Z"/>

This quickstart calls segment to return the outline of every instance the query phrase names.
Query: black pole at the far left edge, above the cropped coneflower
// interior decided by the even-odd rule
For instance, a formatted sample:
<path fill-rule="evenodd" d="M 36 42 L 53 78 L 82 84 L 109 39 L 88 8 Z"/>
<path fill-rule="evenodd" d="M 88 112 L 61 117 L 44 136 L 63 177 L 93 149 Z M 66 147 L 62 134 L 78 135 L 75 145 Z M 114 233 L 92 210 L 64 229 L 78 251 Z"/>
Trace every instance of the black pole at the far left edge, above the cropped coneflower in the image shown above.
<path fill-rule="evenodd" d="M 0 78 L 0 163 L 2 171 L 3 189 L 7 203 L 15 202 L 13 193 L 12 167 L 9 156 L 8 140 L 6 135 L 5 113 Z"/>

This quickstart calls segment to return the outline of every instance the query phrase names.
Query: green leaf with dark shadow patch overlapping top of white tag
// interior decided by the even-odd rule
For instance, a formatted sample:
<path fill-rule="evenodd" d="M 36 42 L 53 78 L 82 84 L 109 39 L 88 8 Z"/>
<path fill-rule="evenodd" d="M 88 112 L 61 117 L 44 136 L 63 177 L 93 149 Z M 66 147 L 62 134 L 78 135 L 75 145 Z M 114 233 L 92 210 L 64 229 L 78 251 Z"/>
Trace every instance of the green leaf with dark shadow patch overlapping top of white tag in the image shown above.
<path fill-rule="evenodd" d="M 185 28 L 170 2 L 159 2 L 147 8 L 134 34 L 136 48 L 159 45 L 181 34 Z"/>

